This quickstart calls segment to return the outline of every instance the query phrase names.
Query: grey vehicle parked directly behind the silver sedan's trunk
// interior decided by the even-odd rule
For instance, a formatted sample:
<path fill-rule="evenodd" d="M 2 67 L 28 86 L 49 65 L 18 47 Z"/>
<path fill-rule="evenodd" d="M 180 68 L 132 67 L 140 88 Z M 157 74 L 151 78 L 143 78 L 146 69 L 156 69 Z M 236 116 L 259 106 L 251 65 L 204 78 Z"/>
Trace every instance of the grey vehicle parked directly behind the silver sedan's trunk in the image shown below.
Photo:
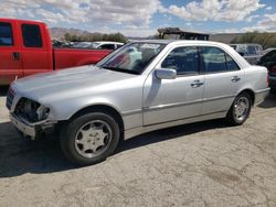
<path fill-rule="evenodd" d="M 252 65 L 258 63 L 264 53 L 263 46 L 259 44 L 231 44 L 230 46 Z"/>

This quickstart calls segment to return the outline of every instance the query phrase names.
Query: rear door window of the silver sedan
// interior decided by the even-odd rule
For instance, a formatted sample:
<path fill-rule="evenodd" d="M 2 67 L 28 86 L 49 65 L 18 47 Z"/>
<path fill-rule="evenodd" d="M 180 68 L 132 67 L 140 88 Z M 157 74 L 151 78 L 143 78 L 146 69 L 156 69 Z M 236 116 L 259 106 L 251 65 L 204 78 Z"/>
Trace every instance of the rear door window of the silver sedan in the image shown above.
<path fill-rule="evenodd" d="M 220 73 L 240 69 L 235 61 L 217 47 L 202 47 L 201 55 L 205 73 Z"/>

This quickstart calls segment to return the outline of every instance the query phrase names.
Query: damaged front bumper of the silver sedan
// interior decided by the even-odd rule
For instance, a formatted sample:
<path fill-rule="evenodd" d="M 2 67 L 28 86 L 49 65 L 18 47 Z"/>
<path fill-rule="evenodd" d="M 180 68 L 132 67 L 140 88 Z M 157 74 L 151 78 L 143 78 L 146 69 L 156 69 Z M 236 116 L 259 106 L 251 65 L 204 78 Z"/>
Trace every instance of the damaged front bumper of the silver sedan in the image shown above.
<path fill-rule="evenodd" d="M 49 122 L 46 120 L 36 123 L 29 123 L 14 113 L 10 113 L 10 120 L 19 131 L 21 131 L 24 135 L 31 137 L 32 140 L 40 137 L 42 133 L 53 133 L 56 123 Z"/>

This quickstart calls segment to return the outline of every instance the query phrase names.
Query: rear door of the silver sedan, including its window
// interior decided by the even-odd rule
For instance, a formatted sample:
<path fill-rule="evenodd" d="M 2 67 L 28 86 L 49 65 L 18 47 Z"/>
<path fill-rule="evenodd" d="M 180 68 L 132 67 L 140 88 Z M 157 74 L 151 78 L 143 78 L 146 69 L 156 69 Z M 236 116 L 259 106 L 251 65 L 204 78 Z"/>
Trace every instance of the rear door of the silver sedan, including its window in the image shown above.
<path fill-rule="evenodd" d="M 202 115 L 227 111 L 237 95 L 244 72 L 223 50 L 201 47 L 205 73 Z"/>

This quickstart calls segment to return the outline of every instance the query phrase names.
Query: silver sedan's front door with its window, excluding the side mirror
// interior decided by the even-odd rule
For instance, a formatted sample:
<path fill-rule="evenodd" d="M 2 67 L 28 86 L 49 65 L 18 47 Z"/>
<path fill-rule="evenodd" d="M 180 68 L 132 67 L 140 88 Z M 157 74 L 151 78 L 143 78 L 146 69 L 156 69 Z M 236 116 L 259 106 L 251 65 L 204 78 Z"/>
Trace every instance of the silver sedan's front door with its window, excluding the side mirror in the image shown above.
<path fill-rule="evenodd" d="M 144 126 L 201 115 L 204 76 L 195 46 L 173 48 L 158 68 L 177 70 L 176 79 L 158 79 L 152 70 L 144 86 Z"/>

